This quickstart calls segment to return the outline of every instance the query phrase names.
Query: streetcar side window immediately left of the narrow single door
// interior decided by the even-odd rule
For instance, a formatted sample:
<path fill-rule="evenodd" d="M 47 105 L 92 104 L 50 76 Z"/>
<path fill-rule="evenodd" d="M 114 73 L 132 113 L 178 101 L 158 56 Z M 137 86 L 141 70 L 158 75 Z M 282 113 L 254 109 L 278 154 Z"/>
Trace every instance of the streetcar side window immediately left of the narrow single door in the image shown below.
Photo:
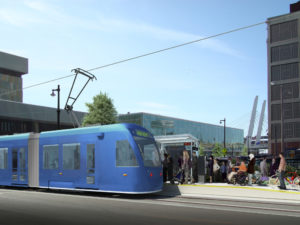
<path fill-rule="evenodd" d="M 78 170 L 80 169 L 80 144 L 63 145 L 63 169 Z"/>

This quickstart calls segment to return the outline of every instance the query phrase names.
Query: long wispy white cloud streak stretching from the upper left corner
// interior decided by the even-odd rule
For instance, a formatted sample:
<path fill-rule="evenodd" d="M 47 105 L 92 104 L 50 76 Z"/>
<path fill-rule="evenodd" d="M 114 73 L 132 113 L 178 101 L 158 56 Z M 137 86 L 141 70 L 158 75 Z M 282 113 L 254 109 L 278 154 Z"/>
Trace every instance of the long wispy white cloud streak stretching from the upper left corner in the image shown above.
<path fill-rule="evenodd" d="M 99 14 L 94 16 L 94 18 L 85 19 L 84 16 L 78 17 L 67 14 L 67 11 L 63 10 L 59 5 L 51 5 L 44 1 L 25 0 L 23 1 L 23 6 L 26 7 L 0 9 L 0 20 L 19 27 L 30 24 L 47 24 L 53 25 L 56 28 L 63 26 L 67 29 L 73 28 L 76 30 L 83 28 L 106 32 L 131 32 L 152 37 L 156 40 L 176 42 L 174 45 L 204 38 L 204 36 L 184 31 L 167 29 L 142 22 L 136 23 L 123 19 L 114 19 L 99 16 Z M 216 38 L 196 42 L 194 45 L 222 54 L 243 58 L 240 52 Z"/>

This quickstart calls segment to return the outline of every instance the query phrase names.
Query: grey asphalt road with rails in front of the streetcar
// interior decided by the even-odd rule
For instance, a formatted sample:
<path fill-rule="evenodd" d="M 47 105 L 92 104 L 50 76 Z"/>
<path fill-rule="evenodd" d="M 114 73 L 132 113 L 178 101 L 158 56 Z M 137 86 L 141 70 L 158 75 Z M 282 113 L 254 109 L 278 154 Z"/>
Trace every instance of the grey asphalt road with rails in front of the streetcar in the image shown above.
<path fill-rule="evenodd" d="M 299 224 L 297 205 L 251 204 L 1 188 L 0 224 Z"/>

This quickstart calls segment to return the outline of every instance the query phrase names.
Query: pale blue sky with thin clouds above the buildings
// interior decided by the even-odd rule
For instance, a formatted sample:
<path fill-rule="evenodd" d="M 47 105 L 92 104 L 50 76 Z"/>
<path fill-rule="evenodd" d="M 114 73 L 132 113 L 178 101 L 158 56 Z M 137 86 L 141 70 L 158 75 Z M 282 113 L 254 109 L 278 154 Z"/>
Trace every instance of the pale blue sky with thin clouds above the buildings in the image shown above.
<path fill-rule="evenodd" d="M 0 0 L 0 51 L 29 59 L 23 102 L 64 107 L 74 77 L 123 59 L 264 22 L 296 0 Z M 267 25 L 91 71 L 74 104 L 87 112 L 100 92 L 119 114 L 148 112 L 244 129 L 255 96 L 267 100 Z M 81 90 L 85 77 L 75 87 Z M 265 117 L 267 113 L 265 113 Z M 263 134 L 267 132 L 267 118 Z M 256 132 L 256 130 L 255 130 Z"/>

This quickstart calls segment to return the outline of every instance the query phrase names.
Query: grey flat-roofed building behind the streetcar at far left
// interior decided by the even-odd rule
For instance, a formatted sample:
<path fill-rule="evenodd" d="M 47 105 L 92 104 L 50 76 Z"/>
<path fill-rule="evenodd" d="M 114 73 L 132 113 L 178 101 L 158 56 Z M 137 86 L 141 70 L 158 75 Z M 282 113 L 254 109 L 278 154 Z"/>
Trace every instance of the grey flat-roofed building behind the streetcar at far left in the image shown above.
<path fill-rule="evenodd" d="M 0 52 L 0 135 L 57 129 L 57 109 L 24 104 L 22 76 L 28 73 L 28 59 Z M 51 90 L 49 91 L 49 98 Z M 74 112 L 79 121 L 85 113 Z M 61 110 L 60 127 L 77 124 Z"/>

